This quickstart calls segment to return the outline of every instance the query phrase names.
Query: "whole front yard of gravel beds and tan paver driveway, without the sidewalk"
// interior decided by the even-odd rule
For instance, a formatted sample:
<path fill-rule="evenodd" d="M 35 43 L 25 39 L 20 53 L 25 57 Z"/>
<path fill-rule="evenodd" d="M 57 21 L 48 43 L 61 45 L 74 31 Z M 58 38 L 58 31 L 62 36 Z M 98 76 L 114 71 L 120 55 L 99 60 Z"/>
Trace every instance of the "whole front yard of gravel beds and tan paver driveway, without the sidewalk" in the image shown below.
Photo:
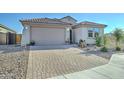
<path fill-rule="evenodd" d="M 123 52 L 123 51 L 120 51 Z M 114 49 L 101 52 L 99 47 L 70 47 L 30 50 L 20 46 L 0 46 L 0 78 L 51 78 L 107 64 Z"/>

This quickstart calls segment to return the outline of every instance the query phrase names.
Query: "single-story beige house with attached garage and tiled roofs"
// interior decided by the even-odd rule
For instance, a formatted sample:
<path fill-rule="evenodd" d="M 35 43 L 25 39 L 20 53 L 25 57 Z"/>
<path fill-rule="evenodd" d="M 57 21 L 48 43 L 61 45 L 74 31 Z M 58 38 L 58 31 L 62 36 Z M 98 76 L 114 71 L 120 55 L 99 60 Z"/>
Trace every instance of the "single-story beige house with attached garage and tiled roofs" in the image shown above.
<path fill-rule="evenodd" d="M 22 45 L 34 41 L 36 45 L 70 44 L 85 40 L 87 44 L 95 44 L 95 37 L 104 35 L 107 25 L 84 21 L 77 23 L 71 16 L 61 19 L 36 18 L 20 20 L 24 26 Z"/>

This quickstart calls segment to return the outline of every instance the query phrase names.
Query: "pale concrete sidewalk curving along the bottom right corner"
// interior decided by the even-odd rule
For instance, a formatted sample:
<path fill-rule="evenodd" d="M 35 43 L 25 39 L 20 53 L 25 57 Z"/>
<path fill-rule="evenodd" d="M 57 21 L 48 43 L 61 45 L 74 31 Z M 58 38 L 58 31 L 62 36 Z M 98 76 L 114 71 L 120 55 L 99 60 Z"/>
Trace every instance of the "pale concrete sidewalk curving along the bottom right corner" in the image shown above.
<path fill-rule="evenodd" d="M 106 65 L 52 79 L 124 79 L 124 53 L 113 54 Z"/>

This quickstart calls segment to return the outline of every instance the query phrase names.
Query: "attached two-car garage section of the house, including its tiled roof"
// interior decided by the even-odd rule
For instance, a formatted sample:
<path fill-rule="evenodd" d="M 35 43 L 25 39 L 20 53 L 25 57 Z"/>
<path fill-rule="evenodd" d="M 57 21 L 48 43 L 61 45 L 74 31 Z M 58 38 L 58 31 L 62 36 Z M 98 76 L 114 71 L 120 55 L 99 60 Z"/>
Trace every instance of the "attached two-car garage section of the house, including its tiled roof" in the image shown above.
<path fill-rule="evenodd" d="M 22 33 L 21 45 L 63 45 L 67 43 L 67 28 L 71 27 L 70 23 L 63 22 L 59 19 L 36 18 L 20 20 L 24 26 Z"/>

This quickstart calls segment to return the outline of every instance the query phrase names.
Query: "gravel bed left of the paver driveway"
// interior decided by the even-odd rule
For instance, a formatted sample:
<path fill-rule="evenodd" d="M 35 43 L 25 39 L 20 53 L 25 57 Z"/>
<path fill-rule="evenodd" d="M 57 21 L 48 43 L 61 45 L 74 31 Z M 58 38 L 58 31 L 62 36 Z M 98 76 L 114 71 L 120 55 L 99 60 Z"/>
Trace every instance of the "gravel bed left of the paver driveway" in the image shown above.
<path fill-rule="evenodd" d="M 28 49 L 20 46 L 0 46 L 0 79 L 25 79 Z"/>

